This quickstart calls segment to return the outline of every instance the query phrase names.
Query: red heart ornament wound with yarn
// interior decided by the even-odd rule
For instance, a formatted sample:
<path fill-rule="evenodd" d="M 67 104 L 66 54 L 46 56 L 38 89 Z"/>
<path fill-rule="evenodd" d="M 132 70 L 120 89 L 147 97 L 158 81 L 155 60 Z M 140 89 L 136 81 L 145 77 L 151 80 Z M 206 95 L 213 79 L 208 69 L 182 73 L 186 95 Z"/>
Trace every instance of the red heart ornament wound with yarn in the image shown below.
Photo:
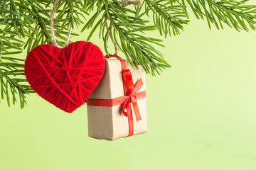
<path fill-rule="evenodd" d="M 72 113 L 80 107 L 103 76 L 105 59 L 92 42 L 73 42 L 65 48 L 35 47 L 25 61 L 32 89 L 46 101 Z"/>

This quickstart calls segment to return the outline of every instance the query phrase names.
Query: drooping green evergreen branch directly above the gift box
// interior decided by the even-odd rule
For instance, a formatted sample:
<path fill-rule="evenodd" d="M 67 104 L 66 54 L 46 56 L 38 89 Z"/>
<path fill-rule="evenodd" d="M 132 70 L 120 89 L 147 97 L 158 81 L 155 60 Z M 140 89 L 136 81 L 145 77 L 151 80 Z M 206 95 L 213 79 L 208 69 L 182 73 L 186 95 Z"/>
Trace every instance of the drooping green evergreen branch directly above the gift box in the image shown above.
<path fill-rule="evenodd" d="M 102 11 L 104 12 L 102 13 Z M 100 20 L 97 21 L 98 17 Z M 105 42 L 107 54 L 109 54 L 107 40 L 110 36 L 112 41 L 117 42 L 119 49 L 124 52 L 130 64 L 135 67 L 142 65 L 146 73 L 151 73 L 152 75 L 160 74 L 159 71 L 171 66 L 164 60 L 161 52 L 151 45 L 163 46 L 159 43 L 162 40 L 148 38 L 144 33 L 149 30 L 155 30 L 156 27 L 145 26 L 145 23 L 149 21 L 144 21 L 141 17 L 137 11 L 122 8 L 118 1 L 114 1 L 113 3 L 102 5 L 101 10 L 85 23 L 82 31 L 92 28 L 87 38 L 87 40 L 90 40 L 91 35 L 100 27 L 99 36 Z M 104 26 L 104 18 L 107 18 L 107 21 L 110 22 L 108 29 Z"/>

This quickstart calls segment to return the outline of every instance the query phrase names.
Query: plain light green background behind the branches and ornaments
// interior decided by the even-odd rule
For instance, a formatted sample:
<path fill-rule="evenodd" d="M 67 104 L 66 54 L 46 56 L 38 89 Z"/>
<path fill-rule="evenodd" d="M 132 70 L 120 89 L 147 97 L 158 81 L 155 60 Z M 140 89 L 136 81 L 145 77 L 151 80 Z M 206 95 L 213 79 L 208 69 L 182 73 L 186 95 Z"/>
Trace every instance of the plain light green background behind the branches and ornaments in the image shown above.
<path fill-rule="evenodd" d="M 1 101 L 0 169 L 255 170 L 255 35 L 192 18 L 167 38 L 161 51 L 172 68 L 146 77 L 144 135 L 95 140 L 86 106 L 68 114 L 36 94 L 23 110 Z M 103 50 L 96 35 L 92 42 Z"/>

